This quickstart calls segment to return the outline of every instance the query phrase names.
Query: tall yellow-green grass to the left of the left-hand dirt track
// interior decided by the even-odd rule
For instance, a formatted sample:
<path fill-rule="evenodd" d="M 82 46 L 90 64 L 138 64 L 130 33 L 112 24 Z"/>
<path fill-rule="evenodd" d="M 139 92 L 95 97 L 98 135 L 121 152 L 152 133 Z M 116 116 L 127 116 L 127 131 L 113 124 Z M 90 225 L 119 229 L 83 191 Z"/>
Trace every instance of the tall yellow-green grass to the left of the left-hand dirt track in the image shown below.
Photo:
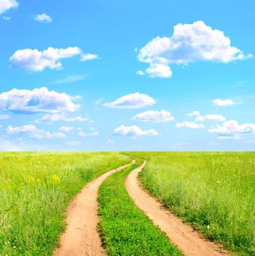
<path fill-rule="evenodd" d="M 52 255 L 69 201 L 129 162 L 118 153 L 1 153 L 0 255 Z"/>

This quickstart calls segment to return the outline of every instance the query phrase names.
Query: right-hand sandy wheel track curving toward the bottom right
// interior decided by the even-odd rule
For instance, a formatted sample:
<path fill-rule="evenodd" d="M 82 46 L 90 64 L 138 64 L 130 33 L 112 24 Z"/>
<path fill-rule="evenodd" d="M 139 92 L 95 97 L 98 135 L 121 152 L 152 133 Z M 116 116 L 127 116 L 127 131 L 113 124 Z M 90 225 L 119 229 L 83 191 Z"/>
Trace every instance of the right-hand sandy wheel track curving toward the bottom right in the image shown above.
<path fill-rule="evenodd" d="M 126 178 L 126 189 L 134 200 L 134 203 L 145 212 L 153 223 L 167 234 L 173 244 L 178 246 L 184 255 L 190 256 L 227 256 L 219 246 L 202 238 L 189 225 L 164 209 L 154 197 L 148 195 L 138 180 L 138 173 L 145 166 L 133 170 Z"/>

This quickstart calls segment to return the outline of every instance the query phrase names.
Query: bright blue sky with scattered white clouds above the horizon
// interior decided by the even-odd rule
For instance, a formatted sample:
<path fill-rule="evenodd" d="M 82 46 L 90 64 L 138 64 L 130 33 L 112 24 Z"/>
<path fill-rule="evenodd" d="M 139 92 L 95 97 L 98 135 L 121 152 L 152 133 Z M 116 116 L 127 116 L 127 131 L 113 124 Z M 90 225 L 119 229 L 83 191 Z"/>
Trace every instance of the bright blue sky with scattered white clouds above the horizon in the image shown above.
<path fill-rule="evenodd" d="M 253 0 L 0 0 L 0 151 L 254 151 Z"/>

